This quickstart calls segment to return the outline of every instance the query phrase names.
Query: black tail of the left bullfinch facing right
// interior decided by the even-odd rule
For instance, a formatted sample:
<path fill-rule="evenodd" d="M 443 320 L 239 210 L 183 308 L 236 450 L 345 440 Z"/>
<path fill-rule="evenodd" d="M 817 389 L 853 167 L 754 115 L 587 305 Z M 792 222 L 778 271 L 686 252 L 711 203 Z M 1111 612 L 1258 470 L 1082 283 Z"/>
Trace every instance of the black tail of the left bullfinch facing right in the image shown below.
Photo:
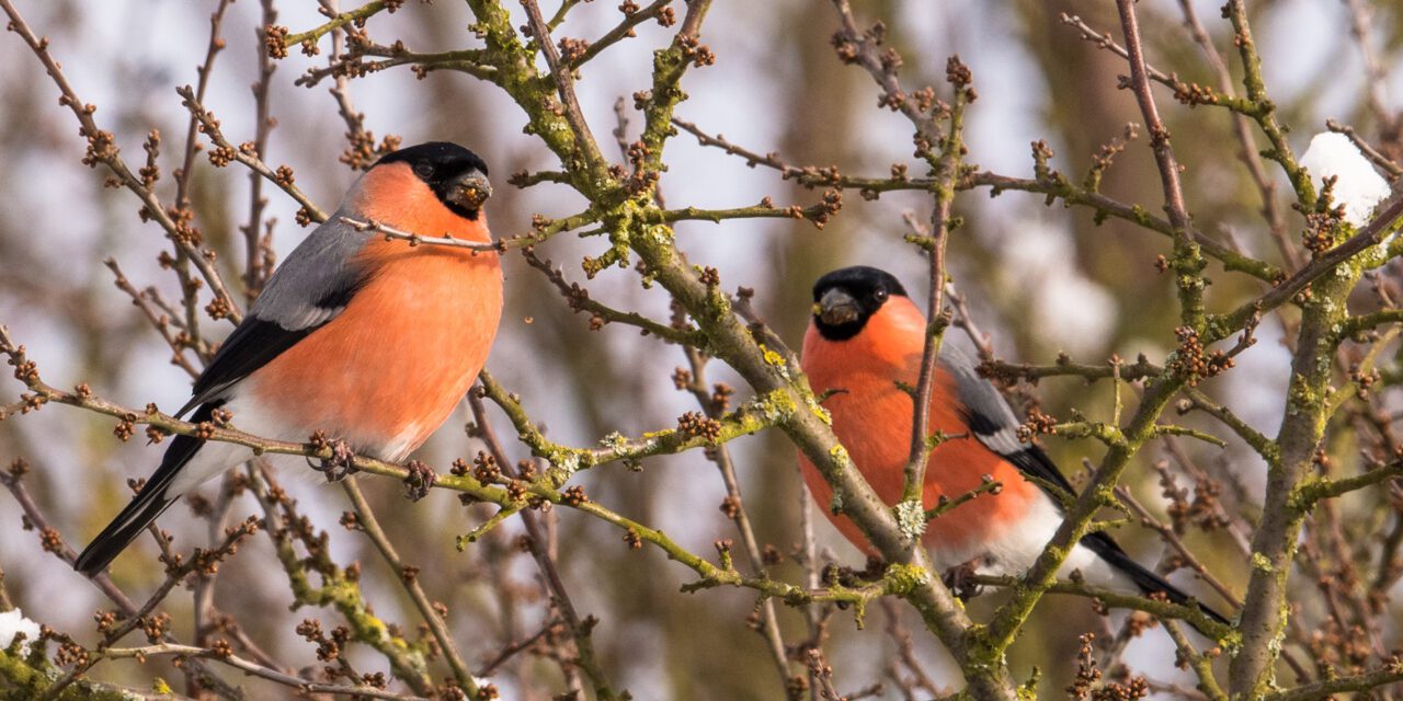
<path fill-rule="evenodd" d="M 196 423 L 209 421 L 215 407 L 217 404 L 201 407 L 191 416 L 191 421 Z M 195 453 L 203 444 L 203 440 L 191 436 L 175 436 L 171 439 L 171 446 L 166 449 L 166 457 L 161 458 L 161 467 L 156 470 L 156 474 L 146 482 L 146 486 L 132 499 L 132 503 L 128 503 L 122 509 L 122 513 L 116 515 L 116 519 L 112 519 L 112 523 L 108 523 L 102 529 L 102 533 L 83 550 L 77 562 L 73 564 L 73 569 L 87 576 L 95 576 L 98 572 L 107 569 L 107 565 L 126 550 L 147 524 L 154 522 L 175 499 L 180 499 L 178 494 L 168 494 L 171 482 L 180 474 L 180 470 L 185 467 L 185 463 L 189 463 L 189 458 L 195 457 Z"/>

